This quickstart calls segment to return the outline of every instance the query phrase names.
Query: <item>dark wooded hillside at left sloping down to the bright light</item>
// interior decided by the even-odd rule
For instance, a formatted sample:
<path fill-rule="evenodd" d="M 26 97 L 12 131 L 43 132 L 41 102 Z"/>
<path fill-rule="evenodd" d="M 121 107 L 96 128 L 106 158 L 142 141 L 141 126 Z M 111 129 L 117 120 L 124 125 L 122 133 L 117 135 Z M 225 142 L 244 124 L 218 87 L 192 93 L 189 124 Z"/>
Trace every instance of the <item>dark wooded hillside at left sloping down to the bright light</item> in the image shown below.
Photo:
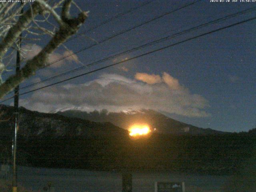
<path fill-rule="evenodd" d="M 14 107 L 0 105 L 0 137 L 10 137 L 13 129 Z M 91 122 L 80 118 L 69 118 L 59 114 L 41 113 L 19 108 L 19 135 L 33 137 L 108 137 L 124 136 L 128 131 L 109 122 Z"/>

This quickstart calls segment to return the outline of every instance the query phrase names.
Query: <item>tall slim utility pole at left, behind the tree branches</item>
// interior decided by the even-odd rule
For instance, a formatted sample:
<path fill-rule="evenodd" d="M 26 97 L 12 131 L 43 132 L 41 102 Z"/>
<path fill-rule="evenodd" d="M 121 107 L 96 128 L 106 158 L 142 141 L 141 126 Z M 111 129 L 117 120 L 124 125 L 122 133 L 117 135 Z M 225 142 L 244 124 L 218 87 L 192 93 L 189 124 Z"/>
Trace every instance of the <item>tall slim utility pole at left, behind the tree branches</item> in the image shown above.
<path fill-rule="evenodd" d="M 22 3 L 20 4 L 22 6 Z M 20 11 L 23 14 L 23 8 Z M 22 40 L 22 33 L 18 39 L 18 50 L 16 56 L 16 75 L 20 72 L 20 48 L 21 48 L 21 40 Z M 19 129 L 19 85 L 15 87 L 14 90 L 14 138 L 12 140 L 12 158 L 13 158 L 13 172 L 12 172 L 12 192 L 17 192 L 17 167 L 16 167 L 16 150 L 17 150 L 17 134 Z"/>

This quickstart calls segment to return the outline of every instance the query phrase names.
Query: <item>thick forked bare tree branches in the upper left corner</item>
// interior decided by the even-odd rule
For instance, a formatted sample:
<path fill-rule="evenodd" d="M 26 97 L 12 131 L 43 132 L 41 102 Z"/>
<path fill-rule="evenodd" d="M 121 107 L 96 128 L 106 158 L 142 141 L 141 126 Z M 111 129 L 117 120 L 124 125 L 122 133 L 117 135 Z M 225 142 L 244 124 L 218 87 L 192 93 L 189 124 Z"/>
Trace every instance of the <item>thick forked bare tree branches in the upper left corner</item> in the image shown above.
<path fill-rule="evenodd" d="M 36 70 L 47 66 L 47 60 L 50 54 L 52 54 L 54 50 L 58 48 L 58 46 L 70 38 L 70 36 L 74 35 L 78 31 L 81 24 L 85 22 L 86 18 L 88 17 L 88 12 L 80 12 L 77 18 L 71 18 L 71 4 L 72 0 L 64 1 L 60 17 L 44 0 L 38 0 L 32 5 L 32 8 L 25 12 L 20 17 L 18 22 L 12 28 L 10 28 L 8 34 L 0 43 L 0 59 L 4 56 L 4 54 L 6 54 L 8 48 L 15 43 L 21 32 L 28 28 L 30 22 L 34 21 L 36 14 L 43 15 L 45 12 L 50 12 L 60 25 L 59 30 L 52 33 L 52 39 L 48 42 L 48 44 L 46 44 L 46 46 L 36 56 L 34 56 L 34 58 L 28 60 L 17 75 L 10 76 L 4 83 L 0 84 L 0 98 L 18 86 L 18 84 L 23 82 L 26 78 L 34 75 Z M 47 30 L 44 32 L 48 34 L 50 33 Z"/>

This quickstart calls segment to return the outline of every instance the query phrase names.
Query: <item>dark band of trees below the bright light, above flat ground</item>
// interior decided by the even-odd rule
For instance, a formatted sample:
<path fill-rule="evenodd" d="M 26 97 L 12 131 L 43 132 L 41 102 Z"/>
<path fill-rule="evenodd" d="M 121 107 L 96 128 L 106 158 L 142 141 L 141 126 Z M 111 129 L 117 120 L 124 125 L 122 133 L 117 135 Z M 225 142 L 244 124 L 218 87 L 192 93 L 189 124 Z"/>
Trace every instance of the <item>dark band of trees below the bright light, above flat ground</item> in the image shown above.
<path fill-rule="evenodd" d="M 255 130 L 205 136 L 152 134 L 18 140 L 19 164 L 94 170 L 161 170 L 231 174 L 253 156 Z M 2 140 L 2 144 L 10 142 Z"/>

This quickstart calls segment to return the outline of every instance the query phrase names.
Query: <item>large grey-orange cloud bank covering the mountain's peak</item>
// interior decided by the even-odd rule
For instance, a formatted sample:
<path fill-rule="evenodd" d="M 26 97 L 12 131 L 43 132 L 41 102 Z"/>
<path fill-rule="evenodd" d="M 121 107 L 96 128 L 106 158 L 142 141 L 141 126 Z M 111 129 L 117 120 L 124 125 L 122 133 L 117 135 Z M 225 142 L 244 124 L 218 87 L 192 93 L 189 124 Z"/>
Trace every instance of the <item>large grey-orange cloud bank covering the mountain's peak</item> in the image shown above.
<path fill-rule="evenodd" d="M 117 74 L 104 74 L 85 84 L 65 84 L 34 92 L 28 100 L 20 103 L 43 112 L 74 107 L 85 110 L 106 108 L 116 112 L 144 108 L 188 117 L 210 115 L 205 112 L 209 106 L 205 98 L 191 94 L 167 73 L 163 74 L 163 79 L 162 83 L 148 84 Z"/>

